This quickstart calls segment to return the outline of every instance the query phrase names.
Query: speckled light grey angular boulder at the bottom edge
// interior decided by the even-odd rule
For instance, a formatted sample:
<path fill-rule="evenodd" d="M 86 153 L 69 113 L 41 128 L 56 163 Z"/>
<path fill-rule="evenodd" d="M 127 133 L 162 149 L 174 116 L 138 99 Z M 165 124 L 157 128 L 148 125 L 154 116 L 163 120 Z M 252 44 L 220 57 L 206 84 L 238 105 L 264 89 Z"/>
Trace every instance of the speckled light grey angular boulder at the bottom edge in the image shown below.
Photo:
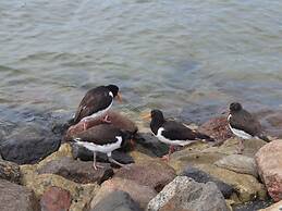
<path fill-rule="evenodd" d="M 164 211 L 164 206 L 169 208 L 165 211 L 229 211 L 225 200 L 214 183 L 197 183 L 186 176 L 174 178 L 150 200 L 147 209 L 148 211 Z"/>

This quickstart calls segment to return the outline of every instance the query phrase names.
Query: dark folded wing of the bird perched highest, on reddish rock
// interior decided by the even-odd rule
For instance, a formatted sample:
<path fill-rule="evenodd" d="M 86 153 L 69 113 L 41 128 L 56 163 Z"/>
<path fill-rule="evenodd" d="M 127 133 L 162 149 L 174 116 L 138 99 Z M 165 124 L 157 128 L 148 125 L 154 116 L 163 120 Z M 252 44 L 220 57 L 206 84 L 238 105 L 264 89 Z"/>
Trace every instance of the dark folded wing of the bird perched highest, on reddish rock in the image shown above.
<path fill-rule="evenodd" d="M 86 92 L 74 116 L 74 124 L 82 119 L 108 108 L 112 103 L 112 96 L 106 87 L 97 87 Z"/>

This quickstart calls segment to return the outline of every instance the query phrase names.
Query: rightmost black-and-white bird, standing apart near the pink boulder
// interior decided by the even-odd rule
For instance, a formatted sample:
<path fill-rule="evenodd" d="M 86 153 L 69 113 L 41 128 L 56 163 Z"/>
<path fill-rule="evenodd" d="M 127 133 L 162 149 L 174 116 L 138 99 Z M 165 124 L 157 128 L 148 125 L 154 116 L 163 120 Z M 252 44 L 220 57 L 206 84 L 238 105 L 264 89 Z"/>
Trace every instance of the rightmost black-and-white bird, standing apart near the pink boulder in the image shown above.
<path fill-rule="evenodd" d="M 238 102 L 232 102 L 230 104 L 228 122 L 231 132 L 240 137 L 237 153 L 242 153 L 244 150 L 243 139 L 257 138 L 269 141 L 263 135 L 262 127 L 258 120 L 244 110 Z"/>

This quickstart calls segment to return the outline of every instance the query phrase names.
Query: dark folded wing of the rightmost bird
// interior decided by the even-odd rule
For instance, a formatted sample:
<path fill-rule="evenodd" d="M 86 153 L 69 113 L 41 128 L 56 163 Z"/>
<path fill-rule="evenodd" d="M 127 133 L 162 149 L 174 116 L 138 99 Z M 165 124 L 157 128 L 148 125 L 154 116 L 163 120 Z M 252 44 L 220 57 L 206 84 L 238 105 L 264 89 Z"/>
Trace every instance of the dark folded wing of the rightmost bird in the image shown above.
<path fill-rule="evenodd" d="M 229 120 L 231 127 L 243 131 L 252 136 L 260 136 L 262 127 L 257 119 L 245 110 L 232 115 Z"/>

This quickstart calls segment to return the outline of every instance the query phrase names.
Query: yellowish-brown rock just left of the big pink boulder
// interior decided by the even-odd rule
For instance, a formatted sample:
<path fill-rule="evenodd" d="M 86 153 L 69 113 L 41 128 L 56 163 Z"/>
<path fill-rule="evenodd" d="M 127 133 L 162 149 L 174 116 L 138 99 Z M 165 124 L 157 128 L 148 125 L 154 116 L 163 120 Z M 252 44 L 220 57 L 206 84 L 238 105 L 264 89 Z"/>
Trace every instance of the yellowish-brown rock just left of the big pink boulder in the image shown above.
<path fill-rule="evenodd" d="M 198 164 L 197 167 L 236 189 L 236 196 L 231 197 L 236 203 L 267 198 L 265 186 L 252 175 L 238 174 L 212 164 Z"/>

